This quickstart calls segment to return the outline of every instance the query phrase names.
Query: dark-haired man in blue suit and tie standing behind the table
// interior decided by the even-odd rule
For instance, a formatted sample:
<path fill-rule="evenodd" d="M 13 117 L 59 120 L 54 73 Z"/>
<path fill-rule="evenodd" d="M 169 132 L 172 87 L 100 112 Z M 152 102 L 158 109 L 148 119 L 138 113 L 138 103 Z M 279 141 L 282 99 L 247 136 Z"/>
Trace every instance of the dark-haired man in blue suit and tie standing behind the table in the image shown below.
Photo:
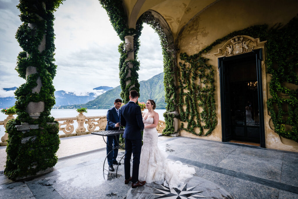
<path fill-rule="evenodd" d="M 121 104 L 122 104 L 121 99 L 115 99 L 114 107 L 108 110 L 108 112 L 107 112 L 107 126 L 105 127 L 106 131 L 119 129 L 120 115 L 121 115 L 121 112 L 120 112 L 121 110 L 119 108 L 121 107 Z M 119 146 L 119 137 L 120 137 L 120 135 L 107 136 L 107 155 L 113 148 Z M 109 171 L 114 171 L 113 164 L 118 164 L 118 162 L 116 160 L 117 155 L 118 155 L 118 148 L 114 149 L 113 152 L 111 152 L 107 156 Z M 119 165 L 121 165 L 121 163 L 119 163 Z"/>

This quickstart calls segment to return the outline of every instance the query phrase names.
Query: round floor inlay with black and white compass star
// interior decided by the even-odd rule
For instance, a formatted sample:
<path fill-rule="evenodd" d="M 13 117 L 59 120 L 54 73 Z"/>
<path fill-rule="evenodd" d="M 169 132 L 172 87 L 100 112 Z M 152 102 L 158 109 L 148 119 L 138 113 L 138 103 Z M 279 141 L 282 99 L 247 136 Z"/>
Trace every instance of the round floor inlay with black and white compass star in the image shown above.
<path fill-rule="evenodd" d="M 132 198 L 164 198 L 164 199 L 197 199 L 197 198 L 233 198 L 226 190 L 204 178 L 193 176 L 180 189 L 168 188 L 161 184 L 146 183 L 142 187 L 129 189 L 127 199 Z"/>

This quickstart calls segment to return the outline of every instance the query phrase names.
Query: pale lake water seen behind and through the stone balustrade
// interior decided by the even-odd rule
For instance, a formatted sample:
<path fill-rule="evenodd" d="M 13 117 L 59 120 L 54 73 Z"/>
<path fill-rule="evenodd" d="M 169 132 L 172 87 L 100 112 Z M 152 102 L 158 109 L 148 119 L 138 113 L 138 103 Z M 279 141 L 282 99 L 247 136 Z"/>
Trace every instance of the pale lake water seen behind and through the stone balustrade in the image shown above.
<path fill-rule="evenodd" d="M 159 114 L 159 120 L 164 121 L 163 113 L 166 111 L 165 109 L 156 109 L 156 112 Z M 86 116 L 102 116 L 107 115 L 108 109 L 88 109 L 87 113 L 83 113 Z M 144 110 L 144 112 L 147 112 L 147 109 Z M 76 117 L 78 115 L 78 112 L 75 109 L 52 109 L 51 110 L 51 116 L 54 118 L 68 118 L 68 117 Z M 0 113 L 0 121 L 3 121 L 7 115 Z M 16 117 L 16 115 L 14 115 Z M 77 122 L 73 124 L 75 129 L 77 128 Z M 87 125 L 85 124 L 85 128 Z M 98 127 L 97 127 L 98 128 Z M 3 125 L 0 125 L 0 138 L 5 134 L 5 128 Z M 59 134 L 64 134 L 62 131 L 59 132 Z"/>

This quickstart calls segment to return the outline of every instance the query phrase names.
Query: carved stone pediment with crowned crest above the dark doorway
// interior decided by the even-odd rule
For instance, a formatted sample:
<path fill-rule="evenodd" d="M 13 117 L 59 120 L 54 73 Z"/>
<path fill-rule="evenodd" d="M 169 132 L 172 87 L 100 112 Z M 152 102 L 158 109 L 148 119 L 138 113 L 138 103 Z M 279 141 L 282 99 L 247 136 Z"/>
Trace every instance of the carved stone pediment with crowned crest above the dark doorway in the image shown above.
<path fill-rule="evenodd" d="M 254 49 L 261 48 L 265 45 L 266 41 L 260 41 L 260 38 L 252 38 L 250 36 L 235 36 L 227 41 L 223 47 L 218 49 L 218 53 L 214 53 L 215 56 L 229 57 L 242 53 L 251 52 Z"/>

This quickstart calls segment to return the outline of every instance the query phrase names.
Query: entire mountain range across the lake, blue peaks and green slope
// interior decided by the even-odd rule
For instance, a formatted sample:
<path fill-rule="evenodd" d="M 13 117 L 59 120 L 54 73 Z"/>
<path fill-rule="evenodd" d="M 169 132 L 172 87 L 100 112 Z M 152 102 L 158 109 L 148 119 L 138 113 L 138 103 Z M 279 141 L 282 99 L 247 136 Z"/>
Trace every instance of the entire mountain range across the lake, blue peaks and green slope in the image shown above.
<path fill-rule="evenodd" d="M 165 109 L 164 102 L 164 73 L 159 73 L 152 78 L 140 81 L 139 102 L 152 99 L 156 102 L 156 109 Z M 12 107 L 15 104 L 13 92 L 17 87 L 0 88 L 0 108 Z M 100 86 L 93 92 L 77 93 L 64 90 L 55 91 L 56 104 L 54 109 L 75 109 L 86 107 L 88 109 L 109 109 L 114 105 L 114 100 L 120 98 L 121 87 L 115 88 Z"/>

